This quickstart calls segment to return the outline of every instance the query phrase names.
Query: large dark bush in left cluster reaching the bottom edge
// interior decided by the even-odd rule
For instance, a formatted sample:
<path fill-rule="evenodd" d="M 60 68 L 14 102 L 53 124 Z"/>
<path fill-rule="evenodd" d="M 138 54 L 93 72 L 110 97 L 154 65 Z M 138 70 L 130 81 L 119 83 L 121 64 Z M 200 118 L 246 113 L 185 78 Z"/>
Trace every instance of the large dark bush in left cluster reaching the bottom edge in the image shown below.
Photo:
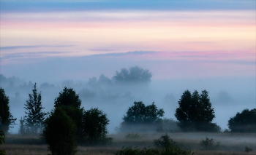
<path fill-rule="evenodd" d="M 46 119 L 42 137 L 53 155 L 72 155 L 77 152 L 76 133 L 75 122 L 58 107 Z"/>

